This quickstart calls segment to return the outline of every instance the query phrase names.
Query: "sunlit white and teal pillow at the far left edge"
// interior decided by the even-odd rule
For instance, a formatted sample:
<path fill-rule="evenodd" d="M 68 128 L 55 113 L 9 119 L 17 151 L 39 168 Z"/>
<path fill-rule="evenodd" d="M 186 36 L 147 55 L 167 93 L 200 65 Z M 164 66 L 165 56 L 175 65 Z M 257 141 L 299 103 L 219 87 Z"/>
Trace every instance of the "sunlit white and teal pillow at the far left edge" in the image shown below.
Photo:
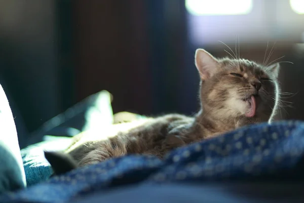
<path fill-rule="evenodd" d="M 0 85 L 0 193 L 25 186 L 16 126 L 8 99 Z"/>

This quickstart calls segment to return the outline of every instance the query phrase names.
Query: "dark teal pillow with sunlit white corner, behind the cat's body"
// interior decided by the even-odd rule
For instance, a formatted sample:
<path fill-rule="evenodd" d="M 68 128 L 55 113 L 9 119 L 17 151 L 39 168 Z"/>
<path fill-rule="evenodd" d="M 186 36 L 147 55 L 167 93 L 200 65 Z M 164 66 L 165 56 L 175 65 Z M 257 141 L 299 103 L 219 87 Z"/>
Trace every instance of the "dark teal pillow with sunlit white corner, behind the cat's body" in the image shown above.
<path fill-rule="evenodd" d="M 43 141 L 45 135 L 72 137 L 88 129 L 100 130 L 113 123 L 111 94 L 100 91 L 55 116 L 29 135 L 27 145 Z"/>

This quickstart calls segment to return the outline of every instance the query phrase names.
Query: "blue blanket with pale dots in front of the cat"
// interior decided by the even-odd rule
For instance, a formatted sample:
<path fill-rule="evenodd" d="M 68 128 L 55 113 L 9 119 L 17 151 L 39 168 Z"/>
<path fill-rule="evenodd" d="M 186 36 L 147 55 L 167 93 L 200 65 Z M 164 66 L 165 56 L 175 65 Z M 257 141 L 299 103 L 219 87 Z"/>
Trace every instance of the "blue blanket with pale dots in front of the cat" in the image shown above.
<path fill-rule="evenodd" d="M 0 202 L 73 202 L 128 184 L 200 184 L 276 177 L 296 180 L 303 177 L 303 155 L 304 123 L 263 123 L 176 149 L 164 160 L 132 155 L 79 168 L 2 195 Z"/>

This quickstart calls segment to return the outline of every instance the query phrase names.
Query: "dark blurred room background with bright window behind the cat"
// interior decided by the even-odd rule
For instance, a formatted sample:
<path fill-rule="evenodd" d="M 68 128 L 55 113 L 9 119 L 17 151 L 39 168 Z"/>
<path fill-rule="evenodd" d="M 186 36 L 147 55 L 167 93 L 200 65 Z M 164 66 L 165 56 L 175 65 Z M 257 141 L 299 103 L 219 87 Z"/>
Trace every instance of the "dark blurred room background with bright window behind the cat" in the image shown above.
<path fill-rule="evenodd" d="M 284 109 L 304 119 L 302 0 L 0 0 L 0 83 L 21 148 L 31 132 L 87 96 L 107 90 L 113 112 L 199 108 L 194 53 L 279 57 Z M 239 45 L 236 45 L 236 42 Z M 293 103 L 293 104 L 291 104 Z"/>

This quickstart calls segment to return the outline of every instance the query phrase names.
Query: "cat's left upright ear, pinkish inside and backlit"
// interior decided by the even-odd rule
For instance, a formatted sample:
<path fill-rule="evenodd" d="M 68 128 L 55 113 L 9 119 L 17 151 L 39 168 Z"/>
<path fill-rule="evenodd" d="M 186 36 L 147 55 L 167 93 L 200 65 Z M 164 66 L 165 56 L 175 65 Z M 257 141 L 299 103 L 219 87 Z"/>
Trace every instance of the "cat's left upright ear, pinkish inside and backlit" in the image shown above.
<path fill-rule="evenodd" d="M 204 49 L 197 49 L 195 52 L 195 65 L 201 79 L 206 80 L 216 72 L 218 61 Z"/>

